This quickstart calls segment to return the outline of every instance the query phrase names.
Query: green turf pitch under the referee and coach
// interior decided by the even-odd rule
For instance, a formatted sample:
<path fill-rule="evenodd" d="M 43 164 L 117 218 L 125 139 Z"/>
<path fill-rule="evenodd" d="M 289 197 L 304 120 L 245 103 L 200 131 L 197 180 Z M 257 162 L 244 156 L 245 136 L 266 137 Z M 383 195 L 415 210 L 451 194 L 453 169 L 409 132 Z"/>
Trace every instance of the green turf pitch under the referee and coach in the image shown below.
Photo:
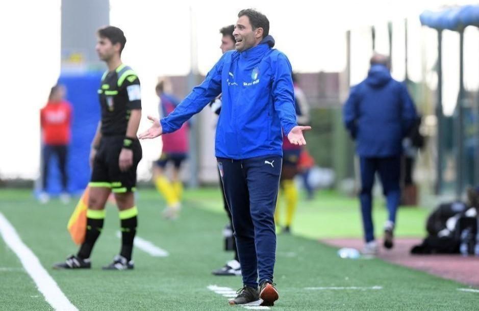
<path fill-rule="evenodd" d="M 87 271 L 56 271 L 53 263 L 77 250 L 66 231 L 73 205 L 52 200 L 40 205 L 26 190 L 0 190 L 0 212 L 39 258 L 60 289 L 80 310 L 230 310 L 228 298 L 209 285 L 238 289 L 240 277 L 217 277 L 211 270 L 232 258 L 222 250 L 221 231 L 227 218 L 218 189 L 187 190 L 181 217 L 161 218 L 164 203 L 153 190 L 138 193 L 138 236 L 167 250 L 152 257 L 134 250 L 135 270 L 102 271 L 119 251 L 119 220 L 107 208 L 105 228 Z M 379 259 L 343 260 L 337 249 L 317 241 L 323 237 L 360 237 L 357 200 L 322 192 L 301 201 L 293 235 L 278 235 L 275 279 L 280 300 L 275 310 L 465 310 L 477 309 L 479 294 L 460 292 L 463 284 L 395 266 Z M 376 224 L 386 217 L 375 206 Z M 427 211 L 401 209 L 398 236 L 422 236 Z M 378 226 L 380 227 L 380 226 Z M 378 228 L 381 230 L 381 228 Z M 308 287 L 373 287 L 381 290 L 306 290 Z M 51 306 L 0 238 L 0 309 L 50 310 Z"/>

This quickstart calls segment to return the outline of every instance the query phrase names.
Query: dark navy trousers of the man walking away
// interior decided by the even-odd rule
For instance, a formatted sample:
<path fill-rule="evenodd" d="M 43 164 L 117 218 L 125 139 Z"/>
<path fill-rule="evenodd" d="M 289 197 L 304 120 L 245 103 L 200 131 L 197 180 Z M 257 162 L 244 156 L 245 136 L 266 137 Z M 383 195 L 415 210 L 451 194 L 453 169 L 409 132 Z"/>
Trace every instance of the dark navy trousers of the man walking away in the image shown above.
<path fill-rule="evenodd" d="M 400 188 L 399 177 L 401 171 L 400 157 L 388 158 L 360 158 L 361 166 L 361 213 L 363 218 L 366 242 L 374 240 L 374 226 L 372 223 L 372 186 L 374 175 L 379 173 L 383 193 L 386 196 L 389 220 L 396 222 L 396 211 L 399 205 Z"/>

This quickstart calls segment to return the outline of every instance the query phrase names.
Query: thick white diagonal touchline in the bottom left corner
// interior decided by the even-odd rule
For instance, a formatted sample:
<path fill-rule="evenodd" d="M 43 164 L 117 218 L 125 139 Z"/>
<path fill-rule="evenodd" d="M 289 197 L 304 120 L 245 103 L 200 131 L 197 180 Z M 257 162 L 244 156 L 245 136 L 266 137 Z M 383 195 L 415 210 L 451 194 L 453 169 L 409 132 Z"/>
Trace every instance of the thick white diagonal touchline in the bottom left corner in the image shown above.
<path fill-rule="evenodd" d="M 46 302 L 55 310 L 78 311 L 77 307 L 71 304 L 60 290 L 55 280 L 42 267 L 37 256 L 21 241 L 15 228 L 2 213 L 0 213 L 0 234 L 8 247 L 17 255 L 23 268 L 37 285 L 38 291 L 45 297 Z"/>

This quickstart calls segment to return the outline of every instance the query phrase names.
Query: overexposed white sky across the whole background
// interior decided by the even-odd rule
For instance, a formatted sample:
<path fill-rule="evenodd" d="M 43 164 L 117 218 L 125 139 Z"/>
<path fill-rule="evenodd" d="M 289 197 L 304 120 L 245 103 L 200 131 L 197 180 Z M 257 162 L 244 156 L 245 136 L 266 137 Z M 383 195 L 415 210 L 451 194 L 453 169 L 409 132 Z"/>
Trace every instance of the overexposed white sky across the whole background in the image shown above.
<path fill-rule="evenodd" d="M 423 37 L 418 25 L 418 15 L 426 8 L 434 9 L 443 4 L 454 3 L 474 2 L 296 0 L 291 3 L 273 0 L 178 0 L 165 3 L 149 0 L 111 0 L 110 18 L 111 23 L 123 29 L 127 36 L 123 61 L 140 75 L 143 86 L 143 113 L 146 116 L 157 115 L 158 99 L 154 93 L 157 77 L 186 74 L 189 71 L 190 8 L 196 15 L 193 27 L 197 34 L 197 60 L 201 73 L 206 73 L 221 56 L 219 29 L 235 23 L 240 9 L 253 7 L 268 16 L 270 33 L 276 39 L 276 47 L 288 55 L 294 70 L 299 72 L 341 71 L 345 66 L 344 32 L 354 28 L 359 35 L 353 35 L 352 48 L 358 48 L 358 54 L 354 57 L 361 62 L 353 60 L 354 76 L 351 82 L 357 83 L 367 73 L 367 60 L 370 56 L 370 51 L 366 50 L 370 49 L 370 43 L 367 42 L 370 38 L 367 32 L 369 26 L 374 24 L 386 27 L 387 20 L 400 23 L 404 17 L 410 18 L 412 27 L 409 34 L 410 77 L 416 81 L 422 79 Z M 394 27 L 396 33 L 400 24 L 395 24 Z M 0 141 L 3 147 L 0 152 L 0 177 L 35 178 L 39 171 L 38 111 L 44 105 L 49 88 L 56 82 L 60 72 L 60 0 L 0 2 L 0 29 L 0 60 L 4 70 L 3 74 L 0 74 L 4 109 L 0 114 Z M 380 28 L 377 35 L 384 38 L 384 33 L 384 28 Z M 400 34 L 400 31 L 397 33 Z M 448 36 L 445 41 L 450 42 L 450 45 L 447 44 L 444 48 L 450 51 L 445 51 L 445 54 L 450 53 L 450 58 L 454 59 L 455 39 L 452 35 L 450 38 Z M 474 87 L 479 80 L 479 41 L 469 40 L 469 36 L 477 38 L 477 30 L 467 30 L 466 36 L 466 59 L 472 64 L 471 68 L 466 68 L 466 85 Z M 431 45 L 427 42 L 425 44 Z M 362 47 L 362 44 L 365 44 L 366 48 Z M 387 46 L 385 44 L 383 39 L 377 42 L 381 50 Z M 434 47 L 431 50 L 433 49 Z M 393 62 L 400 63 L 394 59 Z M 451 67 L 444 70 L 448 72 L 446 79 L 450 76 L 452 86 L 454 71 L 457 69 Z M 404 69 L 398 69 L 397 72 L 393 69 L 393 75 L 404 76 Z M 448 82 L 445 81 L 446 83 Z M 446 97 L 452 98 L 449 95 Z M 446 102 L 452 100 L 445 101 L 444 109 L 449 109 Z M 143 130 L 148 125 L 148 122 L 143 120 L 140 129 Z M 148 176 L 149 163 L 157 158 L 160 152 L 160 140 L 143 143 L 143 148 L 145 161 L 142 161 L 139 167 L 140 178 Z"/>

